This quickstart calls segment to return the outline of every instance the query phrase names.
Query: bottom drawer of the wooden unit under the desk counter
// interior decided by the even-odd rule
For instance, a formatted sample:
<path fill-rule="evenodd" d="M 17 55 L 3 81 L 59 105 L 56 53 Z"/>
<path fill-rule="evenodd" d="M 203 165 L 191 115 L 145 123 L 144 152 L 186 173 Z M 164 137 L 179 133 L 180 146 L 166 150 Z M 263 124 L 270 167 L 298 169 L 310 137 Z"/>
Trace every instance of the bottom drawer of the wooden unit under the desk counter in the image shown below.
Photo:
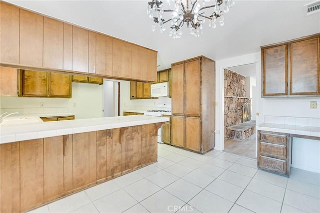
<path fill-rule="evenodd" d="M 285 175 L 286 173 L 286 161 L 262 155 L 259 156 L 258 167 L 268 171 L 277 172 L 283 175 Z"/>

